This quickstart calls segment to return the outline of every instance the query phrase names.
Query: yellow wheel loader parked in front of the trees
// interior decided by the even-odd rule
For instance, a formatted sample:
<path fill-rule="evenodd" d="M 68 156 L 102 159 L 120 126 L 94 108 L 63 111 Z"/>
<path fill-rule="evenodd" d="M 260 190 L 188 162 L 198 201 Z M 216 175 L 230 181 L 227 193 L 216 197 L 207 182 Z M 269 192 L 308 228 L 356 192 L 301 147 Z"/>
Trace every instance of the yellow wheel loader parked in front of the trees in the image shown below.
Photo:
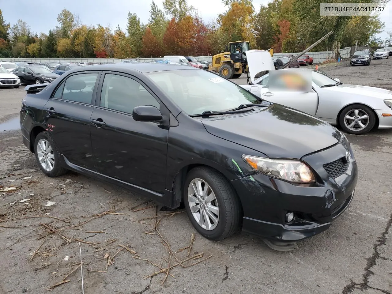
<path fill-rule="evenodd" d="M 230 51 L 212 56 L 209 70 L 227 79 L 239 78 L 241 74 L 248 72 L 248 63 L 243 53 L 250 50 L 249 41 L 230 42 L 228 49 Z M 274 48 L 267 51 L 271 57 L 274 55 Z"/>

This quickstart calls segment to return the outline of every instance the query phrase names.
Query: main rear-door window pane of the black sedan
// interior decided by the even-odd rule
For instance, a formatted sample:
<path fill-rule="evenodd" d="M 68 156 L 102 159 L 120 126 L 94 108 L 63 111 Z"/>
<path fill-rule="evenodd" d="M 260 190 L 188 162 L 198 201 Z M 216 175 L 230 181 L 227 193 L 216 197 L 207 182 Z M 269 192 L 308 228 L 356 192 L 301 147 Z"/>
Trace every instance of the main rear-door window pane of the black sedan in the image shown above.
<path fill-rule="evenodd" d="M 91 104 L 97 73 L 75 74 L 65 81 L 64 100 Z"/>

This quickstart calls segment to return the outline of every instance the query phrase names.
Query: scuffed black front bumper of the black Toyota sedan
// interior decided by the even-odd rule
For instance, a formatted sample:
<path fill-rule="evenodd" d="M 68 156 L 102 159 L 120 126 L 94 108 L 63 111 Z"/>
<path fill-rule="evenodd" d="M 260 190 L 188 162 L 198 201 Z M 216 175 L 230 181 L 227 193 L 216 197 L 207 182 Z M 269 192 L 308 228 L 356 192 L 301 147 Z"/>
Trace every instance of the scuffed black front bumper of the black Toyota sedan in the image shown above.
<path fill-rule="evenodd" d="M 295 242 L 328 229 L 354 197 L 358 168 L 351 149 L 347 171 L 337 178 L 328 176 L 323 164 L 344 157 L 347 149 L 340 143 L 302 158 L 320 178 L 320 184 L 311 187 L 260 173 L 231 181 L 243 207 L 243 231 L 267 240 Z M 296 220 L 287 223 L 287 212 L 294 212 Z"/>

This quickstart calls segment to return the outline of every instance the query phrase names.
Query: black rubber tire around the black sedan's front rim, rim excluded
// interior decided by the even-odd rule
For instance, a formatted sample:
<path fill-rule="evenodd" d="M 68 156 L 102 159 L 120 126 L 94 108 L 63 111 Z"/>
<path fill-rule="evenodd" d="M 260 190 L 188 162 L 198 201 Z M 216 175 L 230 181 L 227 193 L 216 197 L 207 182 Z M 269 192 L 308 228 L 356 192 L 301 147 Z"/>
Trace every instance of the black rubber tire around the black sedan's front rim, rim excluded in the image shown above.
<path fill-rule="evenodd" d="M 201 179 L 214 192 L 218 203 L 218 224 L 212 230 L 206 230 L 194 218 L 188 201 L 188 187 L 192 180 Z M 183 201 L 189 220 L 195 229 L 209 240 L 223 240 L 240 229 L 241 204 L 229 181 L 220 173 L 207 167 L 196 167 L 189 171 L 183 187 Z"/>

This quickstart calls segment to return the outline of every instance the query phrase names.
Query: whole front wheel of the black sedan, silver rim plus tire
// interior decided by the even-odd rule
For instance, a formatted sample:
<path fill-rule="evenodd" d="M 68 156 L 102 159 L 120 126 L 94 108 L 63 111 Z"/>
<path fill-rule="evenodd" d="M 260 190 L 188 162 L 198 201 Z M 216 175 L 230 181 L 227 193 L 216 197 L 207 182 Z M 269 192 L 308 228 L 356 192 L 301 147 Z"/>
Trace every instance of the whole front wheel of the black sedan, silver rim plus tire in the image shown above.
<path fill-rule="evenodd" d="M 183 201 L 195 229 L 210 240 L 222 240 L 240 229 L 241 204 L 229 181 L 207 167 L 192 169 Z"/>

